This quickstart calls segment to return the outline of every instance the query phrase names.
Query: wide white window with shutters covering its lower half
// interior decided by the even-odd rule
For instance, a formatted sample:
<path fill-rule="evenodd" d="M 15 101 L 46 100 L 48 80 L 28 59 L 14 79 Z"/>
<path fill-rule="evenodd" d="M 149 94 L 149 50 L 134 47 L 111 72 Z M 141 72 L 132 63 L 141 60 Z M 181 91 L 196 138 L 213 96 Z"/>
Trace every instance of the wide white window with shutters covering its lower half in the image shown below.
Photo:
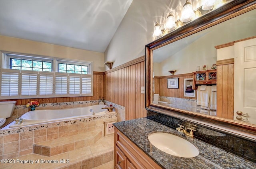
<path fill-rule="evenodd" d="M 12 53 L 3 53 L 2 61 L 0 96 L 3 99 L 93 96 L 90 62 Z"/>

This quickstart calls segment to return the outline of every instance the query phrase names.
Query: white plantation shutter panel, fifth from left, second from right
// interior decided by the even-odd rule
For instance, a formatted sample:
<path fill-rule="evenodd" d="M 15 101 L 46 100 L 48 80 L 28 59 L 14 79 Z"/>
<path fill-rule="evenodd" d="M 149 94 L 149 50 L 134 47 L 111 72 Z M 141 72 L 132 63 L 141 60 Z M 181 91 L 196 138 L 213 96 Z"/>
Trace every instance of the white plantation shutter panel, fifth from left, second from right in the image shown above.
<path fill-rule="evenodd" d="M 69 74 L 69 94 L 76 94 L 80 96 L 80 79 L 81 75 Z"/>

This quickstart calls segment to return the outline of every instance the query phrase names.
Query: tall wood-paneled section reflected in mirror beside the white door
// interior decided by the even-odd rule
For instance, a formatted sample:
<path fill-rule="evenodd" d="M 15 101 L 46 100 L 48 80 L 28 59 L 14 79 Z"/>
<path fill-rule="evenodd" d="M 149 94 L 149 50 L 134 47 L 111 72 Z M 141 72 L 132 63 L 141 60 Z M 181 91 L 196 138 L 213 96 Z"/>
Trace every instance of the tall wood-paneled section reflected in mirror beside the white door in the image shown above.
<path fill-rule="evenodd" d="M 217 116 L 234 116 L 234 59 L 217 61 Z"/>

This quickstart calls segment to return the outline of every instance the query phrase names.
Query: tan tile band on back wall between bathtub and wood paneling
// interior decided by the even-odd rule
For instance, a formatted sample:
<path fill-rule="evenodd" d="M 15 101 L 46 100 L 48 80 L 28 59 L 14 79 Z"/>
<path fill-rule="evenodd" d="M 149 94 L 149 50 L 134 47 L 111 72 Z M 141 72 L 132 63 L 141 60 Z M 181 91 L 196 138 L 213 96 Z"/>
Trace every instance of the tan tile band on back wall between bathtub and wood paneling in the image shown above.
<path fill-rule="evenodd" d="M 62 108 L 74 108 L 74 107 L 85 107 L 98 104 L 98 100 L 90 101 L 79 101 L 79 102 L 59 102 L 59 103 L 43 103 L 36 107 L 36 110 L 43 109 L 62 109 Z M 10 122 L 13 122 L 15 118 L 19 118 L 26 112 L 29 112 L 30 108 L 27 108 L 26 105 L 16 105 L 14 112 L 10 118 L 6 118 L 6 123 L 2 126 L 6 126 Z"/>

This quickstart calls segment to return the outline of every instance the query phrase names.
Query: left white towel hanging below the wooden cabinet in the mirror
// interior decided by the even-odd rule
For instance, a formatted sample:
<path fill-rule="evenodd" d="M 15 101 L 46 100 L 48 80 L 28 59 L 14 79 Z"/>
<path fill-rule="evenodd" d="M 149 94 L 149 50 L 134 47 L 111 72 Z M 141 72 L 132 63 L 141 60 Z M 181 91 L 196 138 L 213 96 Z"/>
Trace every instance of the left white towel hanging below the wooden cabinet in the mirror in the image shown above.
<path fill-rule="evenodd" d="M 197 104 L 203 107 L 210 108 L 211 86 L 206 86 L 205 90 L 201 90 L 201 88 L 202 86 L 198 86 L 197 88 Z"/>

